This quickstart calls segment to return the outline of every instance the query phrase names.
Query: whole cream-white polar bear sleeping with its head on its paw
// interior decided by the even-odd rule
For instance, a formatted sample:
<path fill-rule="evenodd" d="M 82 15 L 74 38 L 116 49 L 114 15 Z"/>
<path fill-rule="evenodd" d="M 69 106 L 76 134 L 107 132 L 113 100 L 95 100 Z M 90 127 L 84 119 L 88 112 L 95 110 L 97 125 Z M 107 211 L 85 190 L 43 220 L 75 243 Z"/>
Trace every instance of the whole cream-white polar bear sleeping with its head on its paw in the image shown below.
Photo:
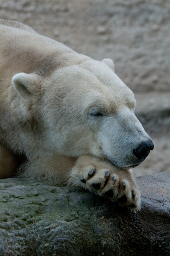
<path fill-rule="evenodd" d="M 0 20 L 0 178 L 57 179 L 140 209 L 131 167 L 154 148 L 110 59 Z"/>

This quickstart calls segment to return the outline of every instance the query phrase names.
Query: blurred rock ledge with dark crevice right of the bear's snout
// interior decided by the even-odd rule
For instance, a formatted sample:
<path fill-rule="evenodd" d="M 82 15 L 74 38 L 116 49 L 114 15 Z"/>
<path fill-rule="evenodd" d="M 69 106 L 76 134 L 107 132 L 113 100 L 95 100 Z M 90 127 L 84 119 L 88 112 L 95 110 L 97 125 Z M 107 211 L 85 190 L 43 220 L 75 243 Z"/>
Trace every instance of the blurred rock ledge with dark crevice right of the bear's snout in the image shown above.
<path fill-rule="evenodd" d="M 135 93 L 135 114 L 155 146 L 146 160 L 134 169 L 136 176 L 170 173 L 170 93 Z"/>

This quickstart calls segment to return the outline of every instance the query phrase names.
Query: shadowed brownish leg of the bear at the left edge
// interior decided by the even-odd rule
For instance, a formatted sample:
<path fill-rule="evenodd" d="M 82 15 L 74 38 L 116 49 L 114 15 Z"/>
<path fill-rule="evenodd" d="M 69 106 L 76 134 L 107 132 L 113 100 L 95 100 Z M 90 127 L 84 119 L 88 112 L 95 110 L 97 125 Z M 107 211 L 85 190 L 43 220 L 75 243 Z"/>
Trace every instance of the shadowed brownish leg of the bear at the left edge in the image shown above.
<path fill-rule="evenodd" d="M 0 144 L 0 179 L 14 176 L 17 167 L 18 158 Z"/>

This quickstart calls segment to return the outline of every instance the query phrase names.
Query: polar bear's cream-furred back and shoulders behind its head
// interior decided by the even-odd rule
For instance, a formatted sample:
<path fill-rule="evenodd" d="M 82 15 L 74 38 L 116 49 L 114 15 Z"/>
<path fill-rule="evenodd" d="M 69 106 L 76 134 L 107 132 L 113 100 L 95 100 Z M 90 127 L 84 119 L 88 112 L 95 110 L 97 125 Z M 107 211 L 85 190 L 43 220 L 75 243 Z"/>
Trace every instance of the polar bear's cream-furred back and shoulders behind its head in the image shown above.
<path fill-rule="evenodd" d="M 12 76 L 20 72 L 50 76 L 57 68 L 90 59 L 10 20 L 0 20 L 0 45 L 0 77 L 5 80 L 5 86 L 9 86 Z"/>

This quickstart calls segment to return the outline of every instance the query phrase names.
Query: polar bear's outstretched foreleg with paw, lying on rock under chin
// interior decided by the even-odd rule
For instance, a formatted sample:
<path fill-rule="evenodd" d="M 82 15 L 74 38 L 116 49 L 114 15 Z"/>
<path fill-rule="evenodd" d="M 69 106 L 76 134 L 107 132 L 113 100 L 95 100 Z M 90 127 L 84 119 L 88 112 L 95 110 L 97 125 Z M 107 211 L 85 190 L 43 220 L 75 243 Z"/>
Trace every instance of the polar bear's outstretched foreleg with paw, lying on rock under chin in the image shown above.
<path fill-rule="evenodd" d="M 19 175 L 82 187 L 132 210 L 140 210 L 140 192 L 132 172 L 95 156 L 46 156 L 23 164 Z"/>

